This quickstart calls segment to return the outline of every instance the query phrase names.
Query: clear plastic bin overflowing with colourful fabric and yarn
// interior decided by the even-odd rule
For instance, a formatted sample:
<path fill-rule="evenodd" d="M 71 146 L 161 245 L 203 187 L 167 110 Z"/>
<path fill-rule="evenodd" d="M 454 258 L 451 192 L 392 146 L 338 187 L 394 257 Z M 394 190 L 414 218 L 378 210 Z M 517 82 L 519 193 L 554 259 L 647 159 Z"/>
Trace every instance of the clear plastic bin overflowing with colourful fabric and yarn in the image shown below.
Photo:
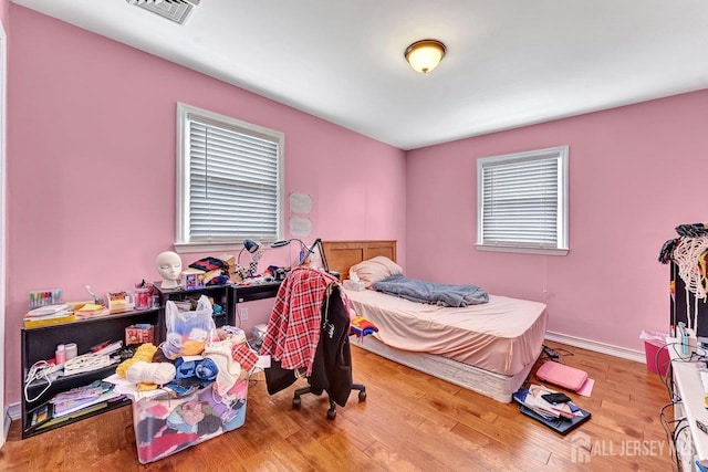
<path fill-rule="evenodd" d="M 240 332 L 239 329 L 231 328 Z M 168 359 L 152 344 L 140 345 L 116 374 L 157 390 L 133 402 L 140 463 L 148 463 L 243 424 L 249 373 L 258 355 L 246 337 L 222 331 L 196 356 Z"/>

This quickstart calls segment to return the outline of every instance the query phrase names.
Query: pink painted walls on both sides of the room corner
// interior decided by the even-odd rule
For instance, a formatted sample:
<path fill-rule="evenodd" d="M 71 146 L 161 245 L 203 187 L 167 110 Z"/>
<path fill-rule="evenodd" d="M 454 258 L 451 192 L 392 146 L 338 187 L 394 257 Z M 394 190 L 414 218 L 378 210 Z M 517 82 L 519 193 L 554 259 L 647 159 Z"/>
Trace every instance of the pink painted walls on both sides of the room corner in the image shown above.
<path fill-rule="evenodd" d="M 7 7 L 8 403 L 20 398 L 29 291 L 83 298 L 85 284 L 105 293 L 157 277 L 155 255 L 174 240 L 178 101 L 285 133 L 287 193 L 313 197 L 313 237 L 397 239 L 408 275 L 543 301 L 552 332 L 641 349 L 642 328 L 666 328 L 656 258 L 675 225 L 707 219 L 708 91 L 406 154 L 15 4 L 9 24 Z M 560 145 L 569 255 L 477 251 L 476 159 Z M 279 251 L 269 258 L 287 263 Z M 256 307 L 250 324 L 269 304 Z"/>

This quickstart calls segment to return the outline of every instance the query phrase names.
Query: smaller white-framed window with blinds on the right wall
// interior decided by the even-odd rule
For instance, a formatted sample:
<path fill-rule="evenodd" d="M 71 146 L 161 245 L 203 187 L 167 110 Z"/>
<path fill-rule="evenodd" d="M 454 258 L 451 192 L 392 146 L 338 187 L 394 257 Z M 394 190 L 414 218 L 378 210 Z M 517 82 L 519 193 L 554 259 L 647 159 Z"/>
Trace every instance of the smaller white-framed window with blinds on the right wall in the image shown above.
<path fill-rule="evenodd" d="M 477 248 L 568 253 L 568 146 L 477 160 Z"/>

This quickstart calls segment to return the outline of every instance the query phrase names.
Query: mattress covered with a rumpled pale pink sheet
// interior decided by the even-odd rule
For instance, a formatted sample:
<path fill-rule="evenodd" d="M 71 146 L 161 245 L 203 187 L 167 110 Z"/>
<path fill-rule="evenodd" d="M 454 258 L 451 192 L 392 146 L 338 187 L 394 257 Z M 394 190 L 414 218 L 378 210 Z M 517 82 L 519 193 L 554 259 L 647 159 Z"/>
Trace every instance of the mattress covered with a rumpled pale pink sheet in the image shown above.
<path fill-rule="evenodd" d="M 347 290 L 352 308 L 378 327 L 387 346 L 428 353 L 490 373 L 514 376 L 538 358 L 545 335 L 545 304 L 489 295 L 489 303 L 442 307 L 372 290 Z"/>

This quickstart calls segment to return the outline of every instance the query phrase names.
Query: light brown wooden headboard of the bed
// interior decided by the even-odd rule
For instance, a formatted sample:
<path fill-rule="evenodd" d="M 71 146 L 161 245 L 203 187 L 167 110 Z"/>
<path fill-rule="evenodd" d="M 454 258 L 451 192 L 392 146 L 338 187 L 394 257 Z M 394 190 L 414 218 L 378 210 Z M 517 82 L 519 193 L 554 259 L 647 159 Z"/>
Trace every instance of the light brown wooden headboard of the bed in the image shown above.
<path fill-rule="evenodd" d="M 396 241 L 322 241 L 322 249 L 331 271 L 350 277 L 350 268 L 376 255 L 385 255 L 396 262 Z"/>

